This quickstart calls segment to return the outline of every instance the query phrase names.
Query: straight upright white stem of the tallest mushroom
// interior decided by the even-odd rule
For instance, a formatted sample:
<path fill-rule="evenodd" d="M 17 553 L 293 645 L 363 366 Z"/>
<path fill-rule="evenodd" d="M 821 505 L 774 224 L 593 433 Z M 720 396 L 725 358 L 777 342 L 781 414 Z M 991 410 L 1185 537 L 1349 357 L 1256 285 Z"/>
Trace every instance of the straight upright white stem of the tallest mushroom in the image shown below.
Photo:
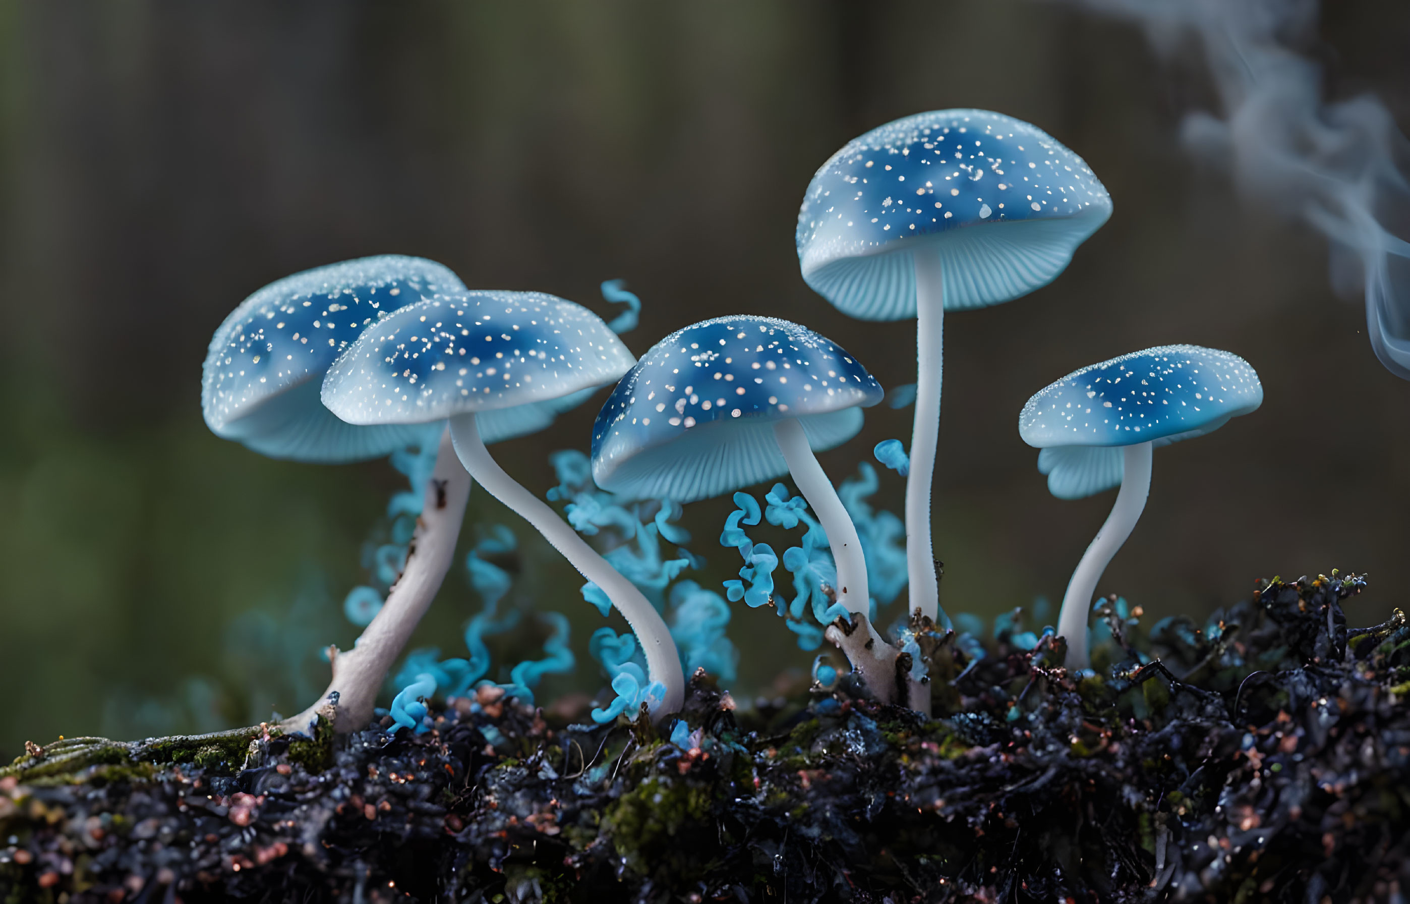
<path fill-rule="evenodd" d="M 915 262 L 915 423 L 911 430 L 911 474 L 905 480 L 905 570 L 911 612 L 942 628 L 940 587 L 931 542 L 931 481 L 940 433 L 940 369 L 945 354 L 945 281 L 940 254 L 921 245 Z"/>

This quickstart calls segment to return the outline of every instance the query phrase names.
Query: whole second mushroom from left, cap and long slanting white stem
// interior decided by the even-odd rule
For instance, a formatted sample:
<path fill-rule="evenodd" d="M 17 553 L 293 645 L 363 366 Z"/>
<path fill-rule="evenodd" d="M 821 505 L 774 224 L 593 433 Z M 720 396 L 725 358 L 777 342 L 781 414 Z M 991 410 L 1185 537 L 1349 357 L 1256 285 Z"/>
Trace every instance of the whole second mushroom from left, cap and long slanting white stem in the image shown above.
<path fill-rule="evenodd" d="M 646 653 L 664 716 L 684 678 L 660 613 L 485 448 L 488 424 L 534 416 L 546 405 L 616 381 L 632 354 L 592 312 L 540 292 L 457 292 L 405 307 L 362 334 L 329 369 L 323 403 L 358 426 L 450 422 L 465 470 L 525 516 L 627 619 Z"/>

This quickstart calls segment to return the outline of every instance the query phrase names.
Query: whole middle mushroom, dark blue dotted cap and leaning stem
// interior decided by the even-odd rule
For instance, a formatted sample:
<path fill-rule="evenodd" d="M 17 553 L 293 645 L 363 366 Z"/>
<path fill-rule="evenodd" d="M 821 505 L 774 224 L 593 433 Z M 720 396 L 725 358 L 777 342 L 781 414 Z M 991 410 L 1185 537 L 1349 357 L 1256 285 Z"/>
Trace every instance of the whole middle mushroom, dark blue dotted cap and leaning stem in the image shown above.
<path fill-rule="evenodd" d="M 862 542 L 814 457 L 856 436 L 862 409 L 883 396 L 856 358 L 807 327 L 749 314 L 705 320 L 657 343 L 613 389 L 592 426 L 592 478 L 629 499 L 694 502 L 792 475 L 828 535 L 838 602 L 853 613 L 828 637 L 890 701 L 897 652 L 867 622 Z"/>

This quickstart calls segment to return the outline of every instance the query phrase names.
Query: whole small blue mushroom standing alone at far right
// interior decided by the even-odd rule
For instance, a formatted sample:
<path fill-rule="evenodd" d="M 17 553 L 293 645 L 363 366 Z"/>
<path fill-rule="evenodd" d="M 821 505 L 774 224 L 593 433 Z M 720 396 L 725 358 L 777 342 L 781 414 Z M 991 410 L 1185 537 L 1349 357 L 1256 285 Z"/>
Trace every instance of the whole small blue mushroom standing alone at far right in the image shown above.
<path fill-rule="evenodd" d="M 1018 434 L 1042 450 L 1038 467 L 1055 496 L 1121 487 L 1063 595 L 1058 633 L 1067 639 L 1069 668 L 1090 667 L 1087 611 L 1145 508 L 1151 450 L 1213 433 L 1262 403 L 1263 385 L 1248 361 L 1200 346 L 1160 346 L 1093 364 L 1028 399 Z"/>

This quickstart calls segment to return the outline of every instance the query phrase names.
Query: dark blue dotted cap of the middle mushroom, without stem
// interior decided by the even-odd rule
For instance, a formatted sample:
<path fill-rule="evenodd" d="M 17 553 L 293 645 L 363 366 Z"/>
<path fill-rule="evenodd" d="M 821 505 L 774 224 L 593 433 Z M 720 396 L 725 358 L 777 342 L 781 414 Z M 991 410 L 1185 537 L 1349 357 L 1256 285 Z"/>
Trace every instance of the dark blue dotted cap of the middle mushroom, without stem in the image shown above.
<path fill-rule="evenodd" d="M 716 317 L 657 343 L 592 426 L 592 478 L 627 498 L 705 499 L 788 472 L 773 422 L 797 417 L 814 448 L 862 429 L 883 396 L 864 367 L 812 330 Z"/>

